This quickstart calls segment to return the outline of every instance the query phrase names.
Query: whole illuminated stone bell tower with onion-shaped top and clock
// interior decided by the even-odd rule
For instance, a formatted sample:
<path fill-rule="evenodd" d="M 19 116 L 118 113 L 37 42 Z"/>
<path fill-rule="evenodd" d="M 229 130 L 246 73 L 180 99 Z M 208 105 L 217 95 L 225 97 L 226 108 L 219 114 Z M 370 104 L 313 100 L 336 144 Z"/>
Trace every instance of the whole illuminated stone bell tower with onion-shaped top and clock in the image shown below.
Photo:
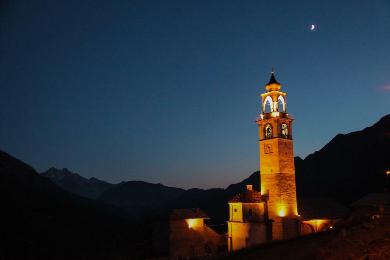
<path fill-rule="evenodd" d="M 292 124 L 286 112 L 286 93 L 273 71 L 261 94 L 259 125 L 261 194 L 267 200 L 268 239 L 287 239 L 298 235 Z M 267 198 L 268 197 L 268 198 Z"/>

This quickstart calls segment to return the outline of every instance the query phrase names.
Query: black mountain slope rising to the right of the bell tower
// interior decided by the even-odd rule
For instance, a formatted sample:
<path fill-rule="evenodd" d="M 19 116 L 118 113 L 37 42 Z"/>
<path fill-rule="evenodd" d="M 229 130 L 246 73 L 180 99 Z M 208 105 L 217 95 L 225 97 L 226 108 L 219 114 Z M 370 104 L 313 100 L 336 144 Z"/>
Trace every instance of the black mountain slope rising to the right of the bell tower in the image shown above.
<path fill-rule="evenodd" d="M 336 135 L 295 163 L 299 196 L 326 196 L 349 205 L 369 192 L 383 192 L 390 169 L 390 115 L 361 131 Z"/>

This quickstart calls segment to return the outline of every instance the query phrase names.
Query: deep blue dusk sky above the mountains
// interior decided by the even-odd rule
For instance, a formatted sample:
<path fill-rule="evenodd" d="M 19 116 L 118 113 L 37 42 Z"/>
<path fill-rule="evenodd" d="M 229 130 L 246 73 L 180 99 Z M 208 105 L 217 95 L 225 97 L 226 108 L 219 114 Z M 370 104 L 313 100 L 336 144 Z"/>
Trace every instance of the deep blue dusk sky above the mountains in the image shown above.
<path fill-rule="evenodd" d="M 240 182 L 271 66 L 295 156 L 390 113 L 390 1 L 5 2 L 0 150 L 39 173 Z"/>

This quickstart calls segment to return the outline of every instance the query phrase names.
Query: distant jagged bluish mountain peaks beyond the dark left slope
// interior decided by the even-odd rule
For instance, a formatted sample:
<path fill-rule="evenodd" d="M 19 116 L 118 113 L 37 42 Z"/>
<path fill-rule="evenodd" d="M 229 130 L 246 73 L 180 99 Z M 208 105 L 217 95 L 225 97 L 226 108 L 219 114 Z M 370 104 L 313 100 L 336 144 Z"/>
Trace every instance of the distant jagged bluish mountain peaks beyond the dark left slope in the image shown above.
<path fill-rule="evenodd" d="M 44 173 L 41 173 L 41 175 L 49 178 L 67 191 L 91 199 L 97 199 L 103 192 L 125 183 L 112 184 L 93 177 L 88 180 L 77 173 L 72 173 L 66 168 L 59 170 L 52 167 Z"/>

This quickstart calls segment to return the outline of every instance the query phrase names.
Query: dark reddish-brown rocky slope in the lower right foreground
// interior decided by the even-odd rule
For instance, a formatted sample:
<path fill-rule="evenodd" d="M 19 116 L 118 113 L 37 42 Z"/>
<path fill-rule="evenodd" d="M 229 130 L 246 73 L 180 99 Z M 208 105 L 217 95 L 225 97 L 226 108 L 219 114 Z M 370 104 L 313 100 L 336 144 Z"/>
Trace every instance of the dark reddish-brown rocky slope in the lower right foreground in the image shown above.
<path fill-rule="evenodd" d="M 390 259 L 390 210 L 381 213 L 379 209 L 359 209 L 330 231 L 246 248 L 216 258 Z"/>

